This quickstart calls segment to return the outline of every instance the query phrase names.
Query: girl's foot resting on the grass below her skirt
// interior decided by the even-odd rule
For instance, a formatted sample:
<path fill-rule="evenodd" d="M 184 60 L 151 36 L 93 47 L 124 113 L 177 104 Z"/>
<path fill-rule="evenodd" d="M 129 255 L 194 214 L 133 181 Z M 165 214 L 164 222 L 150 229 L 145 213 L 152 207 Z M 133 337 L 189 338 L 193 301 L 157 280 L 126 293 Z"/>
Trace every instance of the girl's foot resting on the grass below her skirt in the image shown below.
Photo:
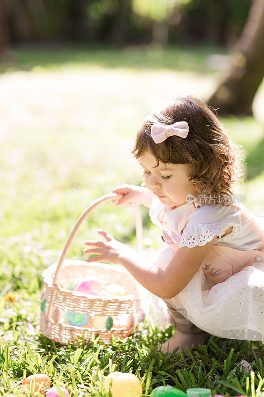
<path fill-rule="evenodd" d="M 160 350 L 163 353 L 170 353 L 179 346 L 180 351 L 186 352 L 186 346 L 190 349 L 197 347 L 199 344 L 206 343 L 210 336 L 211 334 L 207 332 L 187 333 L 175 331 L 174 335 L 162 343 Z"/>

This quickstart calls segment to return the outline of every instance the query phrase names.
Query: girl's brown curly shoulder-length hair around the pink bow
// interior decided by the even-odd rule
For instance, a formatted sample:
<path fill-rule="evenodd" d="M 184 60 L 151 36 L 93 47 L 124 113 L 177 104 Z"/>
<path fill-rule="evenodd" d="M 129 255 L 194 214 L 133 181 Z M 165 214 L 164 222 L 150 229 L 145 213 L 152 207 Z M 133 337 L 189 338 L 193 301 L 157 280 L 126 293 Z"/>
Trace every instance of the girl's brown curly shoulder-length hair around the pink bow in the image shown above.
<path fill-rule="evenodd" d="M 162 163 L 189 164 L 188 179 L 203 195 L 206 204 L 218 198 L 222 205 L 232 202 L 231 185 L 245 178 L 244 152 L 241 145 L 231 142 L 219 123 L 216 112 L 194 97 L 174 97 L 160 103 L 140 126 L 132 153 L 136 158 L 146 150 Z M 170 136 L 155 143 L 150 135 L 154 123 L 170 125 L 186 121 L 186 138 Z M 238 163 L 238 159 L 242 163 Z M 197 196 L 197 195 L 196 195 Z"/>

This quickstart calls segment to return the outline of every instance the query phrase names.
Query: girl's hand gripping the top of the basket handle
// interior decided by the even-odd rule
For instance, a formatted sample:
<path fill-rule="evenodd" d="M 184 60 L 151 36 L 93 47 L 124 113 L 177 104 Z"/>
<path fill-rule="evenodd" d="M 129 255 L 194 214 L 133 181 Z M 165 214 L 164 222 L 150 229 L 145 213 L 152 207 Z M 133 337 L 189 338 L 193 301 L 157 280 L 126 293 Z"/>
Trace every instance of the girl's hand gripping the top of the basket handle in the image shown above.
<path fill-rule="evenodd" d="M 153 194 L 142 186 L 120 185 L 113 189 L 112 193 L 123 195 L 119 200 L 112 199 L 112 202 L 117 207 L 131 207 L 133 205 L 143 204 L 150 208 L 153 200 Z"/>

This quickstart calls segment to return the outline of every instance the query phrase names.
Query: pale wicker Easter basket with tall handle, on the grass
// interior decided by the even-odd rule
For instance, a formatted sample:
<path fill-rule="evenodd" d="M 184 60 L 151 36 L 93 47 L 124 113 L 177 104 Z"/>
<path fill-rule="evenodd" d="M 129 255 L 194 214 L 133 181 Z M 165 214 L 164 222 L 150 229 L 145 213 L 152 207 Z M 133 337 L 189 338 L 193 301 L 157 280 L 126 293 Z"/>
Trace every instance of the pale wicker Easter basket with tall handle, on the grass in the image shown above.
<path fill-rule="evenodd" d="M 75 224 L 59 262 L 49 266 L 43 272 L 45 289 L 41 304 L 40 332 L 49 339 L 67 344 L 68 341 L 74 342 L 76 336 L 82 336 L 85 341 L 88 341 L 93 335 L 100 335 L 100 339 L 107 343 L 111 341 L 112 335 L 123 337 L 130 335 L 135 330 L 135 326 L 143 320 L 144 313 L 141 309 L 137 282 L 125 268 L 98 262 L 88 264 L 85 261 L 65 260 L 84 219 L 100 203 L 121 197 L 122 195 L 115 193 L 102 196 L 87 207 Z M 134 206 L 134 211 L 137 250 L 140 252 L 142 250 L 142 220 L 137 206 Z M 69 282 L 76 285 L 88 276 L 99 277 L 104 287 L 109 283 L 119 284 L 125 289 L 126 295 L 110 297 L 87 295 L 65 287 L 69 285 Z M 74 316 L 79 314 L 81 319 L 89 319 L 88 323 L 73 325 L 74 322 L 71 320 L 73 314 Z M 126 324 L 124 321 L 122 323 L 120 318 L 125 320 Z M 100 324 L 102 325 L 99 326 Z M 112 325 L 110 329 L 109 324 Z"/>

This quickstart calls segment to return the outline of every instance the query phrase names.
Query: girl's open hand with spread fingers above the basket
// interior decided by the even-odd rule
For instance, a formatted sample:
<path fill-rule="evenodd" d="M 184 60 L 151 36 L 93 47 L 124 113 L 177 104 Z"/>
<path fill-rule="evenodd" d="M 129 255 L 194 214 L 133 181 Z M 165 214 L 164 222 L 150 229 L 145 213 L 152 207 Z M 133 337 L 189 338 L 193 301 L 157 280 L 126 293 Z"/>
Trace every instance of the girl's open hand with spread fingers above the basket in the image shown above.
<path fill-rule="evenodd" d="M 120 258 L 129 256 L 130 248 L 125 244 L 115 240 L 110 234 L 103 230 L 98 230 L 98 233 L 103 236 L 106 241 L 93 241 L 87 240 L 85 245 L 89 247 L 97 247 L 94 249 L 83 250 L 85 254 L 94 255 L 98 254 L 97 257 L 89 258 L 86 262 L 109 262 L 111 264 L 119 265 Z"/>

